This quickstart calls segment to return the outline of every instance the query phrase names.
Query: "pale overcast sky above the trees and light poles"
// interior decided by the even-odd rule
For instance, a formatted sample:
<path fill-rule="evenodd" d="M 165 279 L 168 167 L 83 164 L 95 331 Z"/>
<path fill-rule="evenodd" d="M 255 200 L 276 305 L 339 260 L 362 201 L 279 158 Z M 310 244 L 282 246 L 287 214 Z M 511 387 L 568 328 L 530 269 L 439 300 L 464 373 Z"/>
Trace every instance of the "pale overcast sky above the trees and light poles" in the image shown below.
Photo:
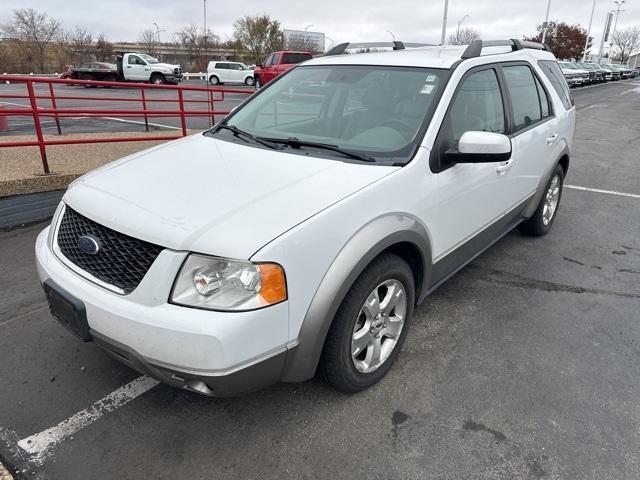
<path fill-rule="evenodd" d="M 202 25 L 203 0 L 0 0 L 0 23 L 13 9 L 32 7 L 47 12 L 67 28 L 82 25 L 111 41 L 136 40 L 142 30 L 155 28 L 164 41 L 184 25 Z M 268 13 L 284 28 L 326 33 L 336 44 L 344 41 L 397 40 L 438 43 L 444 0 L 241 0 L 207 1 L 207 24 L 222 39 L 232 36 L 233 22 L 244 15 Z M 551 0 L 550 20 L 588 27 L 591 0 Z M 465 15 L 466 26 L 480 30 L 484 39 L 521 38 L 535 32 L 544 20 L 546 0 L 450 0 L 448 31 Z M 591 29 L 599 46 L 606 13 L 613 0 L 596 0 Z M 627 0 L 618 28 L 640 25 L 640 0 Z M 331 41 L 327 42 L 331 46 Z"/>

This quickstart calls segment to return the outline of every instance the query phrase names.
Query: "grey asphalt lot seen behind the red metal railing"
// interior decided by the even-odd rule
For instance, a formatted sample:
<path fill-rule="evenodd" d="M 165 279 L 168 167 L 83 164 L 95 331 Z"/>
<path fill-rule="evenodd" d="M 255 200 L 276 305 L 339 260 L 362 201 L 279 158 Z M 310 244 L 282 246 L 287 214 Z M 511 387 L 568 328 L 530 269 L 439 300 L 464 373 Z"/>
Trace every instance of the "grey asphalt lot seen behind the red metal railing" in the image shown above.
<path fill-rule="evenodd" d="M 204 87 L 203 80 L 191 80 L 184 82 L 186 87 Z M 220 89 L 229 88 L 233 90 L 244 90 L 247 94 L 255 91 L 253 87 L 246 87 L 244 85 L 222 85 Z M 48 96 L 49 87 L 46 84 L 35 85 L 36 95 Z M 0 84 L 0 93 L 4 95 L 23 95 L 26 93 L 24 84 L 12 83 L 9 85 Z M 142 109 L 142 102 L 137 101 L 140 99 L 140 89 L 136 87 L 123 87 L 123 88 L 84 88 L 80 85 L 55 85 L 55 95 L 76 97 L 69 100 L 58 100 L 58 108 L 92 108 L 92 109 L 104 109 L 104 110 L 116 110 L 116 109 Z M 88 101 L 86 97 L 98 97 L 103 100 Z M 178 108 L 177 102 L 154 102 L 154 99 L 160 100 L 175 100 L 177 94 L 171 90 L 146 90 L 145 96 L 147 100 L 147 108 L 150 110 L 176 110 Z M 242 93 L 225 93 L 215 94 L 214 108 L 216 111 L 229 111 L 233 107 L 236 107 L 242 102 L 247 95 Z M 115 100 L 116 98 L 125 99 L 124 101 Z M 206 92 L 185 91 L 185 100 L 205 100 L 207 98 Z M 135 101 L 134 101 L 135 100 Z M 46 99 L 39 99 L 38 105 L 40 107 L 51 107 L 51 103 Z M 29 99 L 2 99 L 0 100 L 0 108 L 15 108 L 15 107 L 28 107 Z M 188 110 L 206 110 L 206 104 L 203 103 L 185 103 Z M 214 116 L 213 121 L 218 121 L 222 116 Z M 180 129 L 180 118 L 175 115 L 171 117 L 150 116 L 149 119 L 150 130 L 178 130 Z M 187 128 L 190 129 L 205 129 L 211 126 L 209 118 L 189 116 L 187 117 Z M 117 116 L 115 113 L 113 116 L 105 116 L 99 118 L 88 117 L 66 117 L 60 120 L 61 129 L 63 133 L 90 133 L 90 132 L 123 132 L 123 131 L 144 131 L 144 117 L 134 116 Z M 57 133 L 55 120 L 51 117 L 42 119 L 43 132 L 49 134 Z M 31 117 L 9 117 L 9 130 L 6 132 L 0 132 L 0 138 L 8 135 L 25 135 L 35 133 L 33 127 L 33 121 Z"/>

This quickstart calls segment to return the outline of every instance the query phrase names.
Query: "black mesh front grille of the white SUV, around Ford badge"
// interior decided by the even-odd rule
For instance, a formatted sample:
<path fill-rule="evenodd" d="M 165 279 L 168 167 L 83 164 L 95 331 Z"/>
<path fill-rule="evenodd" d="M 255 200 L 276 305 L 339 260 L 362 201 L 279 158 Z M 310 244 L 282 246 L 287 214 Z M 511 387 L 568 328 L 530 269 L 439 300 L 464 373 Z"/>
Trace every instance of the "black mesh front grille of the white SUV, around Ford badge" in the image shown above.
<path fill-rule="evenodd" d="M 80 248 L 78 239 L 97 240 L 98 253 Z M 58 227 L 58 247 L 62 254 L 82 270 L 125 293 L 131 293 L 142 281 L 162 247 L 104 227 L 66 207 Z"/>

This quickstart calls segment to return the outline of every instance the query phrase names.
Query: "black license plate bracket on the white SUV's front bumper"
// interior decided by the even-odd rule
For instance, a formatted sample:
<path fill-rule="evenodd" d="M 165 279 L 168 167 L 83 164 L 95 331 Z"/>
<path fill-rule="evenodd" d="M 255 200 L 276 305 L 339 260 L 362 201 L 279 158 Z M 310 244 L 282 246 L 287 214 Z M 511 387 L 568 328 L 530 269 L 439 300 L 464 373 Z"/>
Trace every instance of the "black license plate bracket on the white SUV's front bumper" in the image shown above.
<path fill-rule="evenodd" d="M 90 342 L 92 338 L 84 303 L 50 279 L 45 280 L 42 288 L 55 319 L 83 342 Z"/>

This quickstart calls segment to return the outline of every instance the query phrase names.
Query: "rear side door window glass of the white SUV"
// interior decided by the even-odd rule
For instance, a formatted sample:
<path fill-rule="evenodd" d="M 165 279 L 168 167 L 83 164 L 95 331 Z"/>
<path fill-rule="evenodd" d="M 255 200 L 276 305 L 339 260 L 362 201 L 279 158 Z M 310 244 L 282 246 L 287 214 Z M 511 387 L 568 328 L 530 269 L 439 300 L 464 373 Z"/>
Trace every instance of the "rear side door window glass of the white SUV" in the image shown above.
<path fill-rule="evenodd" d="M 513 106 L 516 131 L 542 120 L 538 88 L 531 69 L 525 65 L 502 67 Z"/>

